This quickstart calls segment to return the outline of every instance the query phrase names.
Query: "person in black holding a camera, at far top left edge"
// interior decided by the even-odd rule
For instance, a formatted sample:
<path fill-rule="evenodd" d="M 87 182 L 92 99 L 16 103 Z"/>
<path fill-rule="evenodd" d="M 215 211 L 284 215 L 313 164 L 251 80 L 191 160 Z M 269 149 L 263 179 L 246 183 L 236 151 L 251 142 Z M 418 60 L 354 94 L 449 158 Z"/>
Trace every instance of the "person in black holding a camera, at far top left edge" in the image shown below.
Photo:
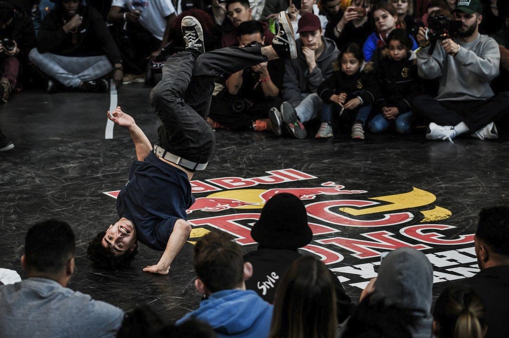
<path fill-rule="evenodd" d="M 28 53 L 36 45 L 32 20 L 7 1 L 0 1 L 0 39 L 0 102 L 6 103 L 18 86 L 22 65 L 28 65 Z"/>

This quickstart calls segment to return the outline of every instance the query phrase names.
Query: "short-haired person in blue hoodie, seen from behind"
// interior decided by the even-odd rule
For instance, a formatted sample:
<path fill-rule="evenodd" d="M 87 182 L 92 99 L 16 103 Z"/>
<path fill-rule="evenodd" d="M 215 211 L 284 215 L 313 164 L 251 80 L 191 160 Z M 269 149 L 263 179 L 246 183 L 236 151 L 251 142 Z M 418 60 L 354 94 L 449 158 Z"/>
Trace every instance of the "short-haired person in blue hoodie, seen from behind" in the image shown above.
<path fill-rule="evenodd" d="M 240 246 L 226 234 L 211 232 L 194 247 L 196 290 L 204 295 L 200 308 L 177 321 L 199 319 L 212 326 L 218 337 L 266 337 L 272 318 L 272 305 L 244 281 L 252 274 L 250 263 L 244 263 Z"/>

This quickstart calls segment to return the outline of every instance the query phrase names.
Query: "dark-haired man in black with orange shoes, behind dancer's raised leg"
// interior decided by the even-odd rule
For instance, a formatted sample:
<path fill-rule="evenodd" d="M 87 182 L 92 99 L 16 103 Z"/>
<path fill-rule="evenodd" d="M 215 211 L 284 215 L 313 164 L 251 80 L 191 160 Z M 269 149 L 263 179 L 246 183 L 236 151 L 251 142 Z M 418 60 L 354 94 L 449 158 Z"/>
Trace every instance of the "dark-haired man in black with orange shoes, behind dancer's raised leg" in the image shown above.
<path fill-rule="evenodd" d="M 239 45 L 263 45 L 264 30 L 260 21 L 242 22 L 237 27 Z M 258 132 L 273 130 L 268 115 L 269 110 L 281 106 L 282 100 L 278 96 L 284 73 L 284 60 L 275 59 L 230 75 L 222 93 L 212 97 L 207 118 L 210 126 Z M 280 128 L 273 132 L 281 134 Z"/>

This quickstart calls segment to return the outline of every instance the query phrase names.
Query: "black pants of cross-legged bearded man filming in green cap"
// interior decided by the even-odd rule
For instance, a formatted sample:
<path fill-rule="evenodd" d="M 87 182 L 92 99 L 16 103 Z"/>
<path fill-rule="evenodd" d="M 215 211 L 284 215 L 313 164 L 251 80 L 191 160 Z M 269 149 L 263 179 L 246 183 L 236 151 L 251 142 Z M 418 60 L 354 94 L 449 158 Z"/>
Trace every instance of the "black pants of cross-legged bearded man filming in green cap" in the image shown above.
<path fill-rule="evenodd" d="M 489 100 L 437 101 L 429 95 L 414 99 L 412 111 L 440 126 L 456 126 L 460 122 L 472 132 L 499 119 L 509 108 L 509 93 L 500 93 Z"/>

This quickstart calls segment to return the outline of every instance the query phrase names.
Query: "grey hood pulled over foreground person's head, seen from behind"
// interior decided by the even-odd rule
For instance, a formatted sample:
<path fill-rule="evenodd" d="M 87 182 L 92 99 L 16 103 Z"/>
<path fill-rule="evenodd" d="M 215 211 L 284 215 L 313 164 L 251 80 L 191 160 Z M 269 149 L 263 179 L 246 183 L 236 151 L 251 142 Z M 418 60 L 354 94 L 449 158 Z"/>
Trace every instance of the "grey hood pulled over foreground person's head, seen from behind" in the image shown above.
<path fill-rule="evenodd" d="M 432 336 L 433 267 L 420 251 L 401 248 L 390 252 L 378 271 L 371 302 L 383 302 L 387 308 L 410 311 L 415 320 L 408 323 L 414 338 Z"/>

